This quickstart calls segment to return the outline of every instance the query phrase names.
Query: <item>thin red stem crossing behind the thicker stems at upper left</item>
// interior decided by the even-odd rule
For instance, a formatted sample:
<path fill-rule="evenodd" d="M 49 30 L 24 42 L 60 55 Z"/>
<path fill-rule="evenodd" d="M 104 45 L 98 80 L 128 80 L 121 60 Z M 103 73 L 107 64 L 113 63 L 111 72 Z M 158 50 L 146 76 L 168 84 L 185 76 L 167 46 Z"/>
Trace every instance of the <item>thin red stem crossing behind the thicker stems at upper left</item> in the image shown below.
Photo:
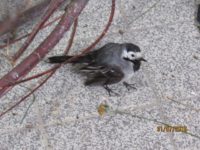
<path fill-rule="evenodd" d="M 52 21 L 50 21 L 50 22 L 48 22 L 47 24 L 45 24 L 44 26 L 42 26 L 41 29 L 46 28 L 47 26 L 53 24 L 54 22 L 60 20 L 61 18 L 62 18 L 62 15 L 60 15 L 59 17 L 54 18 Z M 9 43 L 9 45 L 14 44 L 14 43 L 17 42 L 17 41 L 20 41 L 20 40 L 26 38 L 26 37 L 29 36 L 30 34 L 31 34 L 31 33 L 28 33 L 28 34 L 26 34 L 26 35 L 23 35 L 23 36 L 17 38 L 17 39 L 12 40 L 12 41 Z M 7 47 L 7 46 L 8 46 L 8 44 L 0 45 L 0 49 L 5 48 L 5 47 Z"/>

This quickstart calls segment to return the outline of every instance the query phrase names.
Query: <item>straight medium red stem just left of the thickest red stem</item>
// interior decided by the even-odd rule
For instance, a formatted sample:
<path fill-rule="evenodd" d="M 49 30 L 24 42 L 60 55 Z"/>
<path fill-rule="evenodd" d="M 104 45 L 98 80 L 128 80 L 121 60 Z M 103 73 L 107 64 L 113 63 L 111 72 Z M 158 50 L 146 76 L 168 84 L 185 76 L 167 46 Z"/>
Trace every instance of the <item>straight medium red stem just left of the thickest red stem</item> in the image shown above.
<path fill-rule="evenodd" d="M 26 39 L 19 51 L 13 56 L 13 60 L 16 61 L 30 45 L 32 40 L 35 38 L 36 34 L 39 32 L 40 28 L 45 24 L 53 12 L 64 2 L 65 0 L 52 0 L 49 4 L 48 10 L 45 12 L 41 21 L 35 26 L 30 36 Z"/>

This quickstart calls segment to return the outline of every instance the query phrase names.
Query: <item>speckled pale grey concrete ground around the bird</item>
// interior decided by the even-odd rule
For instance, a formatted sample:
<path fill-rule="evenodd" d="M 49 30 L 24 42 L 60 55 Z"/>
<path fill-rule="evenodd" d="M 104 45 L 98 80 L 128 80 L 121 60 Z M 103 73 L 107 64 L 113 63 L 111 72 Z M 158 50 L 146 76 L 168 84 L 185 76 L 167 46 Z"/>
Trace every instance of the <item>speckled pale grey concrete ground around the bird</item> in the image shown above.
<path fill-rule="evenodd" d="M 89 1 L 70 53 L 78 53 L 101 33 L 110 6 L 111 0 Z M 35 93 L 34 101 L 34 96 L 28 98 L 0 119 L 0 150 L 199 150 L 200 33 L 195 9 L 194 0 L 116 0 L 112 26 L 97 47 L 108 42 L 140 46 L 148 62 L 130 81 L 137 90 L 116 84 L 112 88 L 120 96 L 110 97 L 102 87 L 85 87 L 84 78 L 65 65 Z M 51 29 L 38 35 L 30 51 Z M 62 54 L 66 38 L 48 56 Z M 21 43 L 11 46 L 10 53 Z M 5 59 L 0 67 L 1 76 L 12 68 Z M 49 67 L 41 62 L 31 74 Z M 37 82 L 15 87 L 0 101 L 0 110 Z M 122 112 L 100 117 L 101 103 Z M 188 133 L 159 132 L 159 126 L 165 127 L 159 122 L 186 126 Z"/>

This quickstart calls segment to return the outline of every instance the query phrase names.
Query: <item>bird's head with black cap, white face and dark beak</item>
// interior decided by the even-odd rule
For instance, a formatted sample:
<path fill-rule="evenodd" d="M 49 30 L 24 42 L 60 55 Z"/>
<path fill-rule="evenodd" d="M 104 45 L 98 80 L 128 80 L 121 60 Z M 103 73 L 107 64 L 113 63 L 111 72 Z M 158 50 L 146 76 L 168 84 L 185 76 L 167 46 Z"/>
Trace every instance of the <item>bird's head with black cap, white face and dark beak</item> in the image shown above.
<path fill-rule="evenodd" d="M 131 62 L 141 62 L 141 61 L 146 61 L 142 57 L 142 53 L 140 48 L 137 45 L 131 44 L 131 43 L 125 43 L 122 44 L 123 46 L 123 53 L 122 57 L 125 60 L 131 61 Z"/>

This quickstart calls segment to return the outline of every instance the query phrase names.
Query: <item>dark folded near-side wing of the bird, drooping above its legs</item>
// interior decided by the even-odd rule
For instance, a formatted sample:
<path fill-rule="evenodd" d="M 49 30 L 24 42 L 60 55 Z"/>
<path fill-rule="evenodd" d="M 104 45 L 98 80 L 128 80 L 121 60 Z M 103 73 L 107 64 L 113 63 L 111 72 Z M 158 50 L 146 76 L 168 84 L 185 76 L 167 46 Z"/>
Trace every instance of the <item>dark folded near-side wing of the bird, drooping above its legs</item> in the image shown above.
<path fill-rule="evenodd" d="M 120 82 L 124 73 L 118 67 L 87 66 L 81 69 L 86 71 L 88 78 L 85 85 L 107 85 Z"/>

